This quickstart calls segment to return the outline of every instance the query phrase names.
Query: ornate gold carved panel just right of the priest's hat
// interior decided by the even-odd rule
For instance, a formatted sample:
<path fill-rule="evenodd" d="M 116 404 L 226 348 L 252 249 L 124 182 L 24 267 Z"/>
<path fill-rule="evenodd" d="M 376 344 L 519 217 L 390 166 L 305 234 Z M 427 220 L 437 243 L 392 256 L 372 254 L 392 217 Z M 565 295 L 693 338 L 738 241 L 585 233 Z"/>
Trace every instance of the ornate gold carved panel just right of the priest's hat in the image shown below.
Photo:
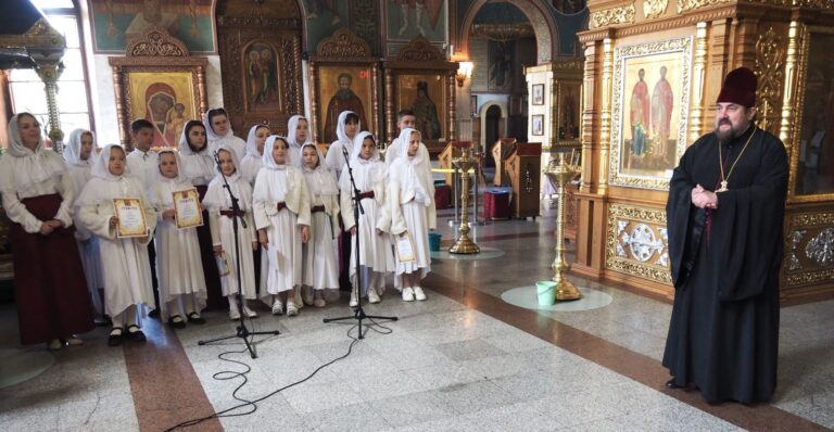
<path fill-rule="evenodd" d="M 786 47 L 784 38 L 770 27 L 756 41 L 756 64 L 754 72 L 758 77 L 757 105 L 759 127 L 775 135 L 780 118 L 780 103 L 784 82 L 784 62 Z"/>

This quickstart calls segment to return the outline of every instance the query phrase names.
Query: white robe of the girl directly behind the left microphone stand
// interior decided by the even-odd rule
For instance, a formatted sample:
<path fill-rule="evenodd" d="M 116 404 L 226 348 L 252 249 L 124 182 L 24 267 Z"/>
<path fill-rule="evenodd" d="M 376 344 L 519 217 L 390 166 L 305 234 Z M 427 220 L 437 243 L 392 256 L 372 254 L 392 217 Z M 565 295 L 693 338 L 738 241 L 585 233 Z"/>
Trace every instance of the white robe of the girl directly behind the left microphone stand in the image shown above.
<path fill-rule="evenodd" d="M 240 176 L 229 179 L 229 187 L 232 193 L 240 200 L 240 208 L 245 212 L 244 219 L 247 228 L 238 221 L 237 244 L 240 247 L 240 279 L 243 281 L 243 297 L 255 298 L 255 265 L 252 255 L 252 242 L 257 241 L 255 224 L 252 219 L 252 187 Z M 210 202 L 220 203 L 219 206 L 208 204 Z M 223 179 L 215 177 L 208 183 L 208 190 L 205 192 L 204 203 L 208 207 L 208 226 L 212 230 L 212 244 L 223 247 L 223 256 L 216 256 L 217 268 L 220 271 L 228 271 L 228 275 L 220 278 L 220 288 L 223 295 L 232 295 L 238 293 L 237 261 L 235 252 L 235 228 L 232 218 L 220 215 L 220 211 L 231 209 L 231 200 L 224 188 Z M 224 259 L 225 258 L 225 259 Z"/>

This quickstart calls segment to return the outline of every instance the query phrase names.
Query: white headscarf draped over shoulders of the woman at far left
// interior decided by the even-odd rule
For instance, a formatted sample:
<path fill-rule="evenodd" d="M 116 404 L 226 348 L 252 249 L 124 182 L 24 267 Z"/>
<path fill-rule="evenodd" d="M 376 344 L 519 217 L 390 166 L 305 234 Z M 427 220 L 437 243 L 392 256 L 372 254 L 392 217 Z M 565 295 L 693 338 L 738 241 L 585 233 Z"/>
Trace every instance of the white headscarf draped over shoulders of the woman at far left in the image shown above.
<path fill-rule="evenodd" d="M 66 171 L 61 156 L 43 145 L 42 135 L 35 151 L 24 145 L 17 126 L 17 119 L 24 114 L 35 118 L 31 114 L 21 113 L 9 120 L 9 149 L 2 157 L 8 161 L 3 164 L 4 168 L 0 169 L 0 190 L 8 192 L 27 189 L 49 178 L 60 177 Z"/>

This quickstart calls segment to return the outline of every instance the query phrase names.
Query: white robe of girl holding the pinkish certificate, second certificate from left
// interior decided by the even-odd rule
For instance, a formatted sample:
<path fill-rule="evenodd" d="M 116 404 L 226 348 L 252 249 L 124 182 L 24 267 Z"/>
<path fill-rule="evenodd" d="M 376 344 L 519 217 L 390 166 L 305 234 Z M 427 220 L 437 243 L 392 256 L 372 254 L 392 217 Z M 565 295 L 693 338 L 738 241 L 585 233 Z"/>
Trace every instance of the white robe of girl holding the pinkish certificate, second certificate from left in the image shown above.
<path fill-rule="evenodd" d="M 194 294 L 197 312 L 205 307 L 206 289 L 197 228 L 177 228 L 176 219 L 163 219 L 162 212 L 174 208 L 173 193 L 192 189 L 188 180 L 159 179 L 150 201 L 156 209 L 156 279 L 160 285 L 160 308 L 167 318 L 168 302 L 182 294 Z M 205 221 L 203 221 L 205 224 Z"/>

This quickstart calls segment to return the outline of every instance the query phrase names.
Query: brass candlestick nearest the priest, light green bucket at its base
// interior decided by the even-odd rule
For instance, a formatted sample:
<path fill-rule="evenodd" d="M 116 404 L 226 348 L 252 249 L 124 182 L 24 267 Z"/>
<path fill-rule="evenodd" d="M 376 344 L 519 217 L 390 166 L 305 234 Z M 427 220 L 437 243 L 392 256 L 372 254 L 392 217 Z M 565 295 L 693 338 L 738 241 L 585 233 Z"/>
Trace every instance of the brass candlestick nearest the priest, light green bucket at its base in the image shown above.
<path fill-rule="evenodd" d="M 554 161 L 556 162 L 556 161 Z M 556 300 L 579 300 L 582 294 L 573 287 L 565 274 L 570 269 L 570 264 L 565 259 L 565 194 L 568 181 L 579 175 L 576 166 L 565 160 L 565 153 L 559 153 L 558 162 L 547 166 L 544 173 L 552 181 L 559 186 L 559 196 L 556 205 L 556 259 L 553 261 L 553 281 L 556 282 Z"/>

